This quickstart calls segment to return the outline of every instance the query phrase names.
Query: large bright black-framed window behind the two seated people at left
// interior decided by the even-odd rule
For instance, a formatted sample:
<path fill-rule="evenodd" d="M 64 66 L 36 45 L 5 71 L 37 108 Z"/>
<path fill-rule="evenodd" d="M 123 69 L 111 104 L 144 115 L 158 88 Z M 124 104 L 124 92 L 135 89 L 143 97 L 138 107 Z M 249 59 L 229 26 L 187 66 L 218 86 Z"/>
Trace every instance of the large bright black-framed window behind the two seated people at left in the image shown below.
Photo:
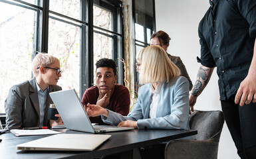
<path fill-rule="evenodd" d="M 61 61 L 58 85 L 80 97 L 94 84 L 100 58 L 118 62 L 122 83 L 122 2 L 112 0 L 0 0 L 0 113 L 11 85 L 33 77 L 37 52 Z"/>

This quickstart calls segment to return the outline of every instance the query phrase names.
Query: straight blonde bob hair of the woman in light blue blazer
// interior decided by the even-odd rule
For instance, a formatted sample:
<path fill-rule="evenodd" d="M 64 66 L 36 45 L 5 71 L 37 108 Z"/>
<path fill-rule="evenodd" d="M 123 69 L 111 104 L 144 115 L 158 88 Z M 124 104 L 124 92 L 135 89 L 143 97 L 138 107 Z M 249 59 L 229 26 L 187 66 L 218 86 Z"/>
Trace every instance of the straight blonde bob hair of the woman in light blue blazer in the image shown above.
<path fill-rule="evenodd" d="M 158 83 L 170 81 L 180 76 L 180 69 L 168 58 L 164 48 L 148 46 L 143 48 L 136 56 L 142 62 L 140 69 L 140 83 Z"/>

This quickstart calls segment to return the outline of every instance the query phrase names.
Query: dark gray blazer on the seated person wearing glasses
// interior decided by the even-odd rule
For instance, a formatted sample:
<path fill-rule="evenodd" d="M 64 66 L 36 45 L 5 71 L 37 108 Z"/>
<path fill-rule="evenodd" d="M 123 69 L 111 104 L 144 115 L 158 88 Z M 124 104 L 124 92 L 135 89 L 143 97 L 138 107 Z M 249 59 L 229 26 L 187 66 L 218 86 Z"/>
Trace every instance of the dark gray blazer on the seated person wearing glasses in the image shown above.
<path fill-rule="evenodd" d="M 30 81 L 13 85 L 5 99 L 6 127 L 5 129 L 22 129 L 23 127 L 39 127 L 39 99 L 35 78 Z M 43 126 L 49 126 L 48 107 L 53 103 L 50 92 L 59 91 L 58 85 L 50 85 L 45 107 Z"/>

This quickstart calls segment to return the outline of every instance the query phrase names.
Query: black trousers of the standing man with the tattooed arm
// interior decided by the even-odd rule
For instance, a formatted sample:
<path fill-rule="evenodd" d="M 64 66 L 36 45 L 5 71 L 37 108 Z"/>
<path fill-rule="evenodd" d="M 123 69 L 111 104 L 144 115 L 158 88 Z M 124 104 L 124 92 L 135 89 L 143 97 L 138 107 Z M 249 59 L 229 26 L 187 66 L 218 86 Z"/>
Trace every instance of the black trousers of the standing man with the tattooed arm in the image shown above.
<path fill-rule="evenodd" d="M 227 127 L 240 158 L 256 158 L 256 103 L 242 107 L 235 104 L 235 95 L 221 101 Z"/>

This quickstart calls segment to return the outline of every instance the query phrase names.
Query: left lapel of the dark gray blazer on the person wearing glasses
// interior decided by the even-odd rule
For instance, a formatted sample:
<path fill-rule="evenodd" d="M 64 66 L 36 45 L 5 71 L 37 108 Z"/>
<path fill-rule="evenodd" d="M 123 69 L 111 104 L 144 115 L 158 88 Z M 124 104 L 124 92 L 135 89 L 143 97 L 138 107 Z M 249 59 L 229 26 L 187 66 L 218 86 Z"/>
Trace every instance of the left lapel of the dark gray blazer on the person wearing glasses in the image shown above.
<path fill-rule="evenodd" d="M 39 99 L 38 99 L 38 94 L 37 94 L 37 85 L 35 83 L 35 78 L 31 79 L 29 81 L 29 97 L 30 97 L 30 100 L 32 101 L 33 103 L 33 107 L 35 108 L 35 110 L 37 111 L 37 115 L 38 117 L 40 117 L 40 114 L 39 114 Z"/>

